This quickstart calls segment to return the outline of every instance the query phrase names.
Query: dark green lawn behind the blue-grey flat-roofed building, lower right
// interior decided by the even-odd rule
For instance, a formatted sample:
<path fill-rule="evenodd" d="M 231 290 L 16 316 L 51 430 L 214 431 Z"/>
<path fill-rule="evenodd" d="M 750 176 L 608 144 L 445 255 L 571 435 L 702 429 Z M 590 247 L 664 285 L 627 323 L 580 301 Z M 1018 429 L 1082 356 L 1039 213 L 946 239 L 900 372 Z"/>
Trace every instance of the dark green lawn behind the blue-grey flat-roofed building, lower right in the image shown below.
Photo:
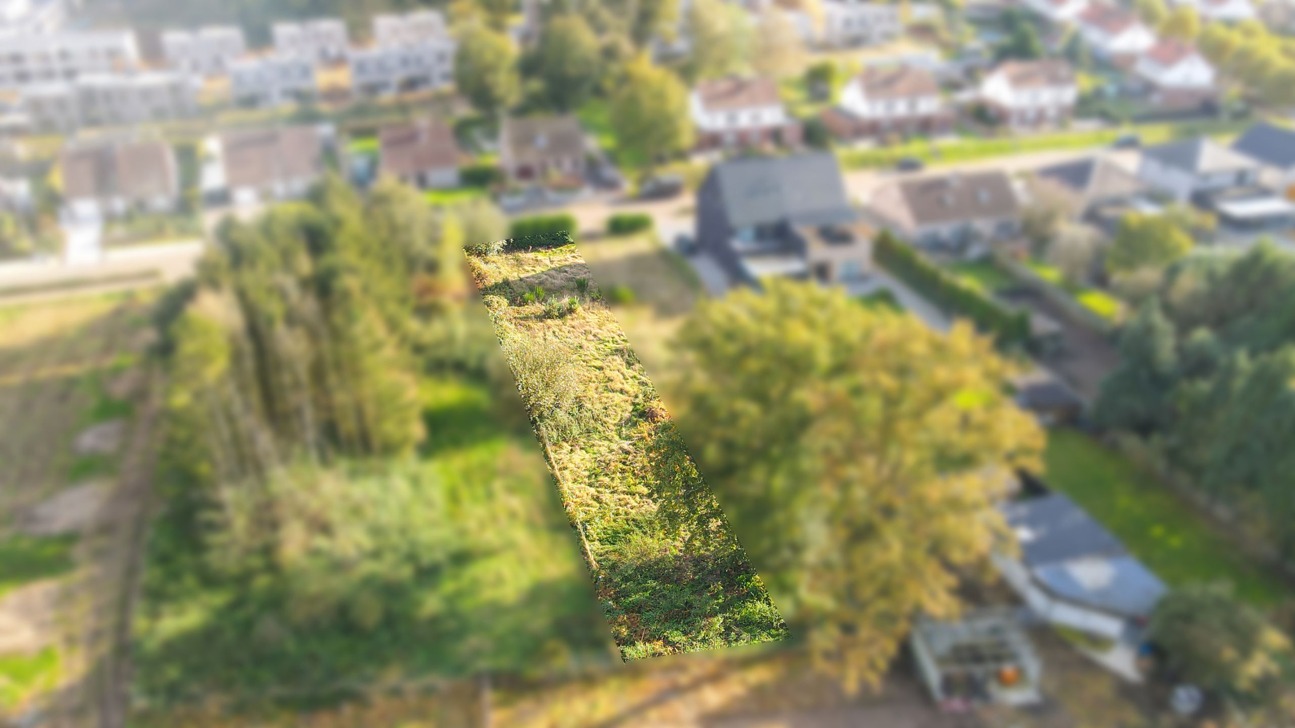
<path fill-rule="evenodd" d="M 1048 483 L 1101 521 L 1171 587 L 1226 580 L 1260 606 L 1295 596 L 1153 477 L 1088 435 L 1052 431 L 1045 459 Z"/>

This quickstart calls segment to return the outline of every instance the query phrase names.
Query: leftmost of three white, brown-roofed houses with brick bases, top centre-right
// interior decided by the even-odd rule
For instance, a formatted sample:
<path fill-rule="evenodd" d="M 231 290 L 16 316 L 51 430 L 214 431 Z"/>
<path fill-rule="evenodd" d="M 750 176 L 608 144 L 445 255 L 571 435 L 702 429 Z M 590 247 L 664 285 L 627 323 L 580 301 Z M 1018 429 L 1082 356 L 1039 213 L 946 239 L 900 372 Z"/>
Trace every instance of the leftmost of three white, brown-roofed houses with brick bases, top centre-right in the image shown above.
<path fill-rule="evenodd" d="M 787 115 L 769 78 L 703 80 L 689 98 L 697 148 L 800 144 L 800 123 Z"/>

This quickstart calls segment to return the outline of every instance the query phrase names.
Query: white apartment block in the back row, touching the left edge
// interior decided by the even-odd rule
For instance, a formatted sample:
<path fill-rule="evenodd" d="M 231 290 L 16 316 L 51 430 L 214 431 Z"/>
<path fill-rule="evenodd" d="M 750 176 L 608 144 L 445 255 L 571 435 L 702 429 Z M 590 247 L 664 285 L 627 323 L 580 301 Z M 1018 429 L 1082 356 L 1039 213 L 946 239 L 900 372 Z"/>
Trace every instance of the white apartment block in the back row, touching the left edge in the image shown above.
<path fill-rule="evenodd" d="M 133 70 L 139 62 L 135 34 L 128 30 L 0 34 L 0 88 L 122 73 Z"/>

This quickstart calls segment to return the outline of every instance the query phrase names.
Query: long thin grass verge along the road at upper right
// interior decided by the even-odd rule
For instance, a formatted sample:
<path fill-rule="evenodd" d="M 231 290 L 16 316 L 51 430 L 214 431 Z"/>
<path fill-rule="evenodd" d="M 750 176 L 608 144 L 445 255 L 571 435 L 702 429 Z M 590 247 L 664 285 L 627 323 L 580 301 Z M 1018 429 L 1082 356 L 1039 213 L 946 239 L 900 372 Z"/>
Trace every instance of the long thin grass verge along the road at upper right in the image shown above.
<path fill-rule="evenodd" d="M 1230 137 L 1241 133 L 1251 122 L 1194 122 L 1131 124 L 1094 131 L 1058 131 L 1037 135 L 1005 136 L 997 139 L 956 137 L 932 141 L 918 139 L 905 144 L 879 149 L 846 149 L 839 152 L 840 163 L 847 170 L 890 167 L 903 158 L 914 157 L 927 165 L 956 165 L 975 162 L 1027 152 L 1067 149 L 1093 149 L 1109 146 L 1124 135 L 1136 133 L 1143 145 L 1162 144 L 1193 136 Z"/>

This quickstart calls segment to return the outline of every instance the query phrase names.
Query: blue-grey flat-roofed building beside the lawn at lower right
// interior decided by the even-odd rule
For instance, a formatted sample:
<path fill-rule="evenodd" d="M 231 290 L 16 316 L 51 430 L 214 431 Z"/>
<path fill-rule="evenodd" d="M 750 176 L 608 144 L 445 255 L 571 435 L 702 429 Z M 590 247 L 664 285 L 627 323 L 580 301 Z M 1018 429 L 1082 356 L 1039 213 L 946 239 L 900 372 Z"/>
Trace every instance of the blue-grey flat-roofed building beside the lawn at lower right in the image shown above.
<path fill-rule="evenodd" d="M 996 553 L 993 563 L 1041 619 L 1119 640 L 1164 596 L 1160 579 L 1070 497 L 1028 497 L 1002 513 L 1020 554 Z"/>

